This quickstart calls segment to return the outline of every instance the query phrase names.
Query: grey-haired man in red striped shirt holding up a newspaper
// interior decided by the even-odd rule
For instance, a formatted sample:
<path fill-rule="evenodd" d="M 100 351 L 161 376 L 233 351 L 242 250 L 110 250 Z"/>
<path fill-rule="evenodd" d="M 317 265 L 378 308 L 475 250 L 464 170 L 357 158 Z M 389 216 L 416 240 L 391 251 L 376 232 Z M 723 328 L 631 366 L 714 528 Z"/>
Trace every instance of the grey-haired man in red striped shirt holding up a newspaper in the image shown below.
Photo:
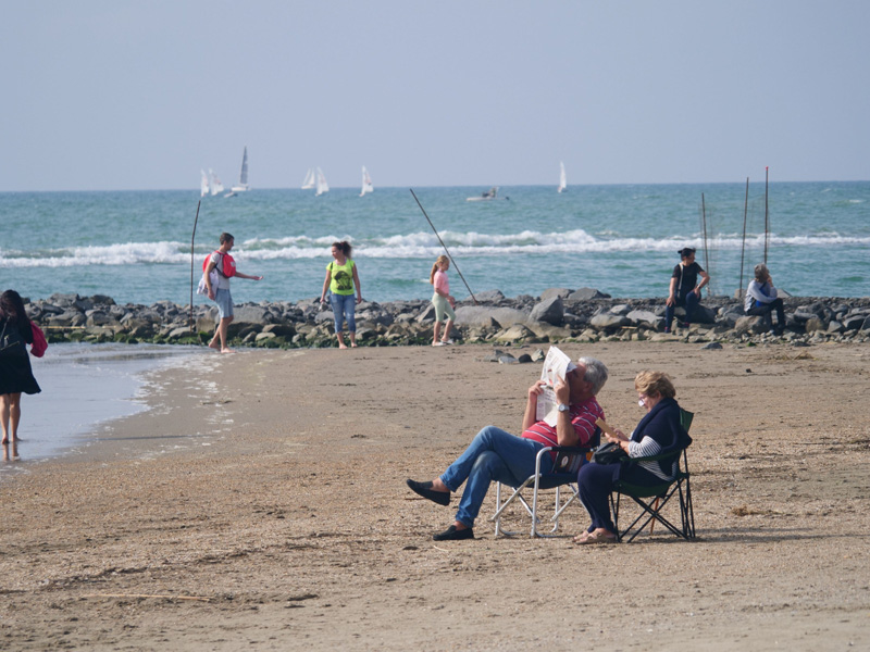
<path fill-rule="evenodd" d="M 406 480 L 412 491 L 439 505 L 450 504 L 450 492 L 465 482 L 453 525 L 436 534 L 436 541 L 473 539 L 474 519 L 493 480 L 519 487 L 535 473 L 535 459 L 548 446 L 584 446 L 595 435 L 595 422 L 604 418 L 596 394 L 607 381 L 607 367 L 595 358 L 570 365 L 564 380 L 556 381 L 559 415 L 556 427 L 536 421 L 537 397 L 544 380 L 529 388 L 520 437 L 495 426 L 482 429 L 456 462 L 430 482 Z M 555 455 L 545 455 L 542 472 L 551 473 Z"/>

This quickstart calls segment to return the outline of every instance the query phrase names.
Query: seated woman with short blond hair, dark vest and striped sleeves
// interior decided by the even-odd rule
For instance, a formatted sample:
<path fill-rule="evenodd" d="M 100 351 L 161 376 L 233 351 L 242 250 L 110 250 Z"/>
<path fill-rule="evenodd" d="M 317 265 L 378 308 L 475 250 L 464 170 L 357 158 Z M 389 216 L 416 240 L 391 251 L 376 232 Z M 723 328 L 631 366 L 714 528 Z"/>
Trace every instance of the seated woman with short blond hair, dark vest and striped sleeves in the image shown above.
<path fill-rule="evenodd" d="M 631 437 L 621 430 L 616 436 L 606 435 L 608 441 L 619 443 L 629 457 L 649 457 L 673 452 L 673 459 L 639 462 L 624 465 L 585 464 L 577 474 L 580 500 L 592 517 L 585 532 L 574 538 L 575 543 L 613 543 L 616 526 L 610 516 L 608 499 L 617 480 L 633 485 L 654 486 L 672 480 L 679 472 L 680 451 L 692 443 L 680 421 L 676 390 L 670 377 L 662 372 L 641 372 L 634 379 L 638 403 L 647 411 Z"/>

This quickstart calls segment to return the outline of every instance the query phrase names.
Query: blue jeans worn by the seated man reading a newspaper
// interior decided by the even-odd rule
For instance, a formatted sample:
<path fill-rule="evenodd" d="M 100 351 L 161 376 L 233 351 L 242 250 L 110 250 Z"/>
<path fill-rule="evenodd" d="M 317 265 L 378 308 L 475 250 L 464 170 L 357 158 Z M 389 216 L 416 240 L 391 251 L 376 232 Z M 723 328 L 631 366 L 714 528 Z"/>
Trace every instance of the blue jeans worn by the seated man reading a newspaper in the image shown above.
<path fill-rule="evenodd" d="M 469 448 L 440 476 L 450 491 L 456 491 L 468 479 L 456 519 L 468 527 L 481 511 L 489 482 L 496 480 L 519 487 L 535 473 L 535 455 L 543 443 L 523 439 L 495 426 L 486 426 L 472 439 Z M 552 471 L 552 459 L 544 455 L 540 472 Z"/>

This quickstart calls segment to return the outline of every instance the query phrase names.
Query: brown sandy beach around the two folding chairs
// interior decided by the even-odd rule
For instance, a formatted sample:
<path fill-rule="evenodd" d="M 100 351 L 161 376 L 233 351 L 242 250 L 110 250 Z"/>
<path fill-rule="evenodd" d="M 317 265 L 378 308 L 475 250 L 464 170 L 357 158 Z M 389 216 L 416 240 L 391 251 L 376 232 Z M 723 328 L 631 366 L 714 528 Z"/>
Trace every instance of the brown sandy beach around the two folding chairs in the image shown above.
<path fill-rule="evenodd" d="M 203 351 L 87 454 L 0 484 L 0 648 L 868 649 L 870 347 L 561 348 L 608 364 L 599 400 L 626 431 L 635 374 L 672 375 L 696 413 L 696 541 L 575 546 L 579 504 L 559 538 L 496 539 L 482 517 L 476 540 L 432 541 L 458 499 L 405 479 L 485 425 L 517 432 L 537 364 Z"/>

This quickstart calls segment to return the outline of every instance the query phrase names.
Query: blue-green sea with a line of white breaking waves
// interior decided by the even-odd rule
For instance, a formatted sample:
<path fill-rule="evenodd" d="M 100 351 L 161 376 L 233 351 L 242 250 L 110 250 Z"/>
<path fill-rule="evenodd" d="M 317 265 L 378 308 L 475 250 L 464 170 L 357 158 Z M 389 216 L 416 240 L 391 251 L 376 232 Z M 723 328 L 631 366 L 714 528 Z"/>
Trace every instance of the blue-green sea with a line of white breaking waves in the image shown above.
<path fill-rule="evenodd" d="M 377 302 L 430 298 L 444 247 L 460 300 L 552 287 L 661 297 L 686 246 L 716 294 L 733 296 L 767 261 L 793 296 L 868 296 L 870 181 L 515 186 L 467 201 L 486 190 L 0 192 L 0 286 L 187 305 L 191 277 L 228 231 L 238 269 L 264 276 L 233 281 L 237 304 L 319 297 L 336 240 L 351 242 L 363 298 Z"/>

